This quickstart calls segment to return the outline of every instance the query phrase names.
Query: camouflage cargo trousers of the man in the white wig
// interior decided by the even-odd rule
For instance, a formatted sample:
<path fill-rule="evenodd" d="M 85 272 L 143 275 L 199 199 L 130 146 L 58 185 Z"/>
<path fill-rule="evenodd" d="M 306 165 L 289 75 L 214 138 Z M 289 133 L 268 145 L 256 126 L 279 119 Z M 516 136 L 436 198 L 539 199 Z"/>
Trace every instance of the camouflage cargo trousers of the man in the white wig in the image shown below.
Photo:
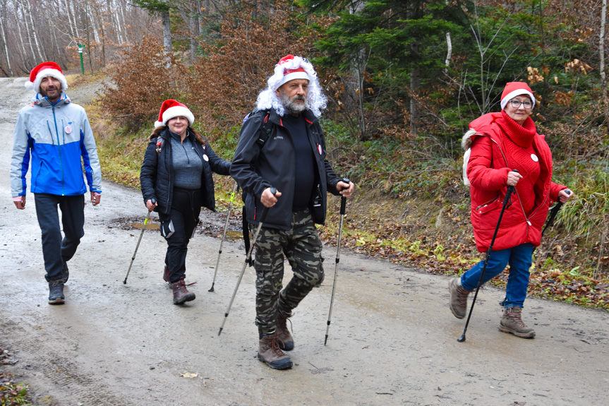
<path fill-rule="evenodd" d="M 255 227 L 250 225 L 252 234 Z M 308 292 L 323 280 L 322 243 L 310 210 L 292 213 L 289 231 L 263 226 L 255 244 L 256 325 L 260 333 L 275 332 L 277 313 L 290 316 Z M 282 290 L 284 255 L 294 276 Z"/>

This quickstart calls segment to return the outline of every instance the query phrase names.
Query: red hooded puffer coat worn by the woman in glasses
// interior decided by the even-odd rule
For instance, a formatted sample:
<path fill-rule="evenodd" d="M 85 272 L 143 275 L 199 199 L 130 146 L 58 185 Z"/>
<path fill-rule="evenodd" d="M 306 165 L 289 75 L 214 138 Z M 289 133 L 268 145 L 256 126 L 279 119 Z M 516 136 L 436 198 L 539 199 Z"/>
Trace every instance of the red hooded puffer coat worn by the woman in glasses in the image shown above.
<path fill-rule="evenodd" d="M 514 125 L 519 124 L 508 119 L 507 114 L 489 113 L 471 121 L 470 130 L 462 139 L 462 146 L 467 149 L 471 146 L 471 155 L 467 164 L 467 178 L 471 184 L 471 224 L 474 226 L 476 248 L 480 252 L 488 251 L 499 215 L 505 193 L 507 192 L 507 173 L 519 168 L 524 177 L 521 165 L 514 162 L 514 158 L 506 156 L 507 132 L 514 131 Z M 508 129 L 508 126 L 512 129 Z M 541 229 L 548 215 L 548 208 L 557 201 L 558 193 L 566 186 L 557 185 L 552 179 L 552 153 L 545 142 L 545 136 L 536 132 L 535 124 L 528 118 L 524 127 L 533 131 L 532 147 L 538 157 L 541 173 L 529 192 L 534 193 L 534 206 L 529 213 L 525 213 L 520 200 L 524 198 L 521 193 L 525 191 L 516 186 L 516 193 L 512 193 L 511 205 L 505 209 L 501 226 L 495 238 L 493 250 L 508 249 L 520 244 L 541 244 Z M 533 196 L 528 196 L 532 198 Z"/>

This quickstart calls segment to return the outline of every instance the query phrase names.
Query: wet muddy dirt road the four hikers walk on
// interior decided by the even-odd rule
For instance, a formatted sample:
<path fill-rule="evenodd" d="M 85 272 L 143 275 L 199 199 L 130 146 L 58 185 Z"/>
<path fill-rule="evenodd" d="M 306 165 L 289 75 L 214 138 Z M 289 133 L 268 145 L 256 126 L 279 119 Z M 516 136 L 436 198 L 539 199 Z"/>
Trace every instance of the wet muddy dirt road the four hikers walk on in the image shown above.
<path fill-rule="evenodd" d="M 41 405 L 607 404 L 607 312 L 527 299 L 537 337 L 522 340 L 498 331 L 502 292 L 486 288 L 459 343 L 464 322 L 447 308 L 447 277 L 354 253 L 341 253 L 324 345 L 331 246 L 325 283 L 293 318 L 294 368 L 273 371 L 255 358 L 253 268 L 217 335 L 242 243 L 224 243 L 215 292 L 207 292 L 219 239 L 193 239 L 186 266 L 197 299 L 174 306 L 161 277 L 166 245 L 147 231 L 123 285 L 139 236 L 126 223 L 141 222 L 145 208 L 138 191 L 109 182 L 102 203 L 85 208 L 66 304 L 49 306 L 33 196 L 16 210 L 8 180 L 14 122 L 31 95 L 24 81 L 0 79 L 0 346 L 18 361 L 0 368 L 28 381 Z M 222 225 L 223 215 L 201 219 Z"/>

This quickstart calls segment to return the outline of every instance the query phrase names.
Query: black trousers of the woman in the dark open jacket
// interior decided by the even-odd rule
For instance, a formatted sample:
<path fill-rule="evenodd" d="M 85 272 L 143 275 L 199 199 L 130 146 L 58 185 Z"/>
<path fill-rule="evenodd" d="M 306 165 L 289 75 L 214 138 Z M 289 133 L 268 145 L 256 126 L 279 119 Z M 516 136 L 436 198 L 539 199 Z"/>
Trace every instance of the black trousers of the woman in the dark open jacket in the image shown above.
<path fill-rule="evenodd" d="M 189 190 L 174 188 L 174 196 L 169 215 L 161 216 L 162 221 L 171 221 L 174 234 L 167 238 L 165 265 L 169 268 L 169 282 L 175 283 L 186 277 L 186 253 L 199 223 L 203 193 L 200 189 Z"/>

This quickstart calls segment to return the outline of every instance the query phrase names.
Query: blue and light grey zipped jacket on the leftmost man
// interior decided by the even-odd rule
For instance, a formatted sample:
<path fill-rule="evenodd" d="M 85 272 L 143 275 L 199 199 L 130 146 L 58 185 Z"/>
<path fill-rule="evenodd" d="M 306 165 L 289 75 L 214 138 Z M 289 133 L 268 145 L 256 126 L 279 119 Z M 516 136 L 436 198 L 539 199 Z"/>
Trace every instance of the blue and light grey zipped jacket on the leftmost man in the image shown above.
<path fill-rule="evenodd" d="M 13 197 L 25 196 L 30 160 L 32 193 L 83 195 L 85 177 L 89 191 L 102 191 L 100 160 L 87 113 L 65 93 L 54 105 L 39 93 L 19 112 L 11 160 Z"/>

